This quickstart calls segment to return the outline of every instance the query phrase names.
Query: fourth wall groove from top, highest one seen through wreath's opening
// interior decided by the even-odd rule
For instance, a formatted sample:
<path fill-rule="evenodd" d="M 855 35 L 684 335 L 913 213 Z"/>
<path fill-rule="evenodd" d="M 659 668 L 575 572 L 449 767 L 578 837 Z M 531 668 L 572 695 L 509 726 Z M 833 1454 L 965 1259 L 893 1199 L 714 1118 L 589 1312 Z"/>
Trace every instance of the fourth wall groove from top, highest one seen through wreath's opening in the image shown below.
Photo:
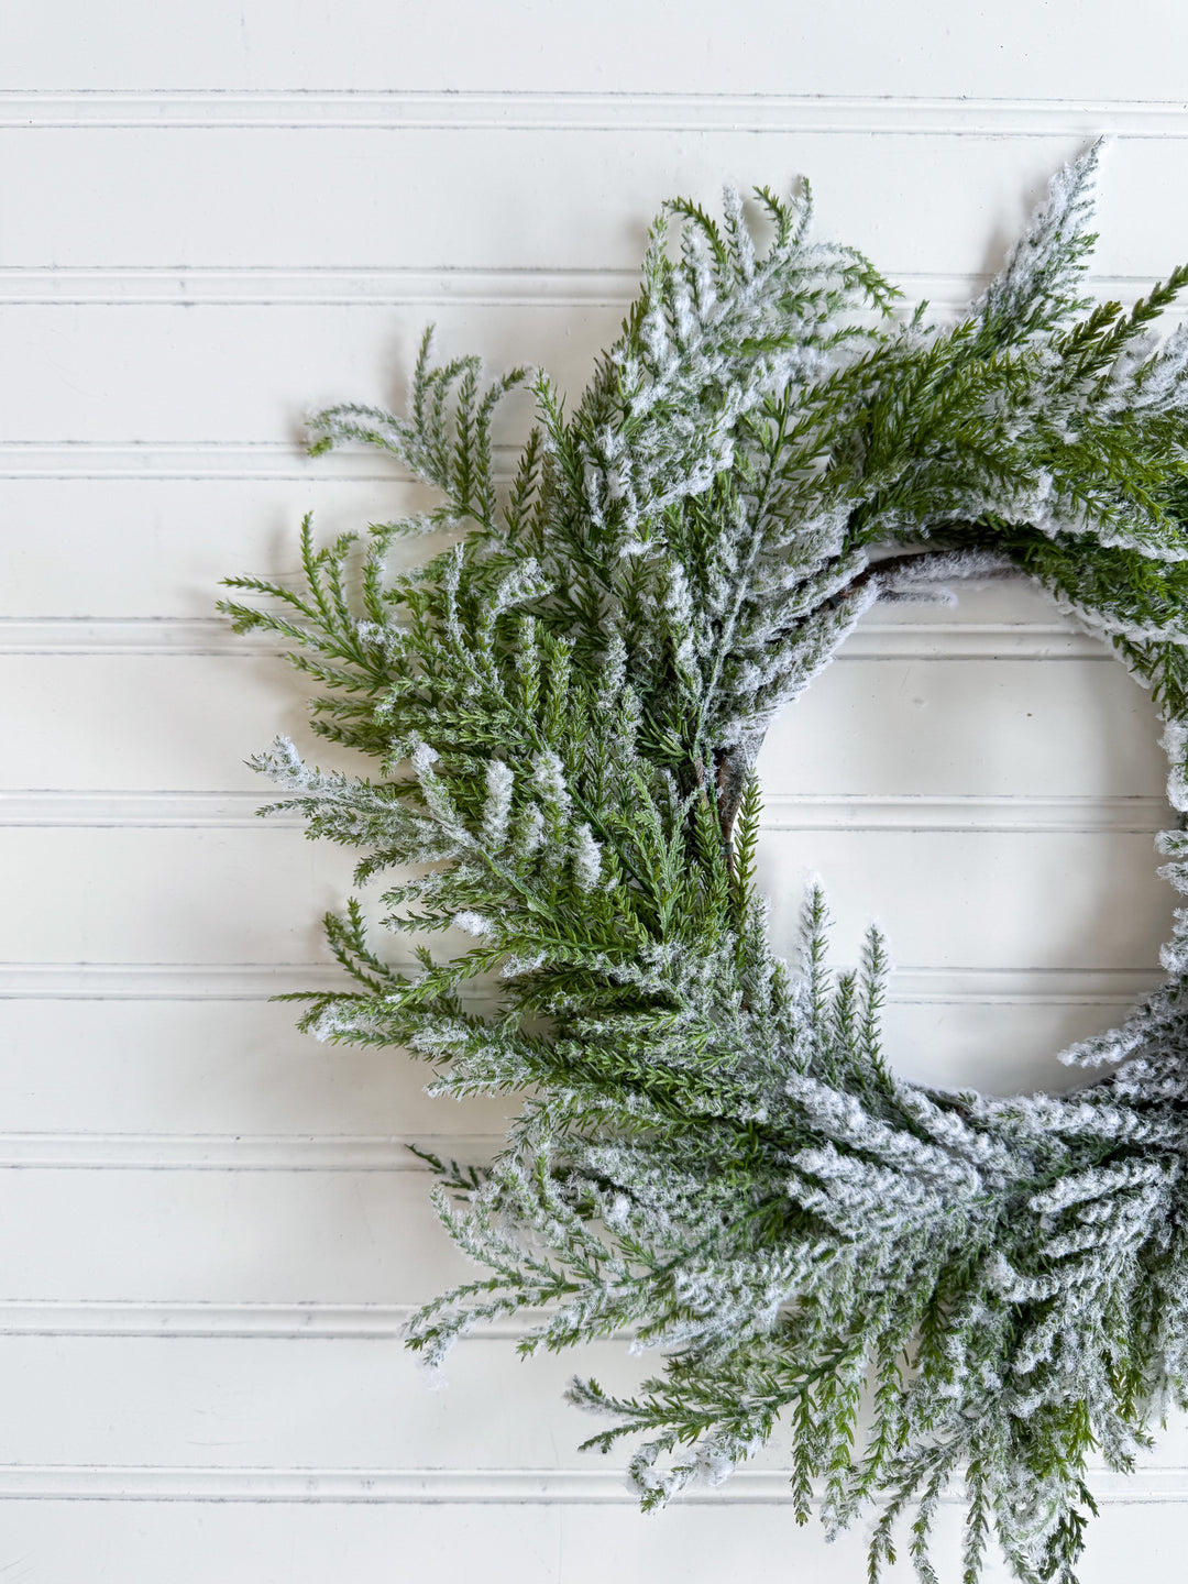
<path fill-rule="evenodd" d="M 225 654 L 280 653 L 217 618 L 0 618 L 0 654 Z M 1112 649 L 1061 621 L 863 621 L 838 661 L 1109 661 Z"/>

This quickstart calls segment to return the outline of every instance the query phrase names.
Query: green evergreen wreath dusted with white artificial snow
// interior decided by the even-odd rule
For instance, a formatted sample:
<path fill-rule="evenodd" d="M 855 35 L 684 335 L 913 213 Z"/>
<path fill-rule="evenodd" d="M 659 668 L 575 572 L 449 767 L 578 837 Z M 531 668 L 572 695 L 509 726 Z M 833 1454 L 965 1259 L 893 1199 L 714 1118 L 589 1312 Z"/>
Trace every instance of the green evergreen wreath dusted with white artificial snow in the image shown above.
<path fill-rule="evenodd" d="M 222 605 L 379 767 L 279 738 L 252 760 L 271 808 L 361 849 L 360 884 L 388 876 L 388 930 L 470 938 L 401 973 L 352 900 L 326 930 L 353 985 L 301 1026 L 412 1050 L 436 1095 L 523 1099 L 496 1159 L 426 1155 L 489 1275 L 426 1304 L 409 1346 L 437 1362 L 513 1313 L 521 1353 L 627 1332 L 661 1373 L 569 1397 L 610 1421 L 586 1446 L 640 1438 L 643 1506 L 779 1422 L 798 1521 L 882 1498 L 871 1576 L 911 1506 L 936 1578 L 960 1476 L 965 1578 L 996 1532 L 1020 1579 L 1068 1584 L 1087 1454 L 1129 1470 L 1188 1407 L 1188 911 L 1166 984 L 1063 1053 L 1099 1082 L 995 1099 L 898 1077 L 879 933 L 830 969 L 813 890 L 787 968 L 756 874 L 768 724 L 876 600 L 969 575 L 1019 570 L 1114 645 L 1188 809 L 1188 329 L 1152 334 L 1188 269 L 1129 312 L 1080 295 L 1096 160 L 950 325 L 809 241 L 806 190 L 748 212 L 727 192 L 721 220 L 667 204 L 570 412 L 537 371 L 434 364 L 426 336 L 407 417 L 334 407 L 312 451 L 379 447 L 439 504 L 325 546 L 306 518 L 303 584 L 231 578 L 253 599 Z M 493 421 L 521 386 L 508 477 Z M 450 540 L 398 572 L 407 534 Z M 1159 846 L 1188 890 L 1188 835 Z"/>

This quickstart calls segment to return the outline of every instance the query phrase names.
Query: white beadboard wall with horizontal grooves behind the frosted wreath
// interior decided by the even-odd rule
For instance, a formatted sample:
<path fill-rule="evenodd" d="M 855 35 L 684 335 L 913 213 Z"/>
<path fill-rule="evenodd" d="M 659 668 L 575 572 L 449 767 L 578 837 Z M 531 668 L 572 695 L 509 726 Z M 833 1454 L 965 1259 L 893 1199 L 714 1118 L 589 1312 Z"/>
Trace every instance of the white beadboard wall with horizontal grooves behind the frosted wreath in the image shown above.
<path fill-rule="evenodd" d="M 575 1451 L 573 1359 L 502 1327 L 432 1392 L 404 1354 L 466 1270 L 404 1144 L 480 1153 L 502 1112 L 269 1003 L 334 980 L 348 865 L 253 819 L 244 759 L 307 740 L 301 691 L 217 580 L 291 570 L 309 508 L 401 510 L 301 418 L 398 401 L 426 320 L 577 393 L 676 192 L 808 173 L 821 231 L 946 312 L 1107 131 L 1095 290 L 1134 299 L 1188 255 L 1188 13 L 46 0 L 3 33 L 0 1576 L 859 1584 L 865 1535 L 795 1527 L 778 1443 L 643 1519 Z M 760 768 L 773 928 L 809 871 L 841 960 L 879 919 L 901 1071 L 1068 1085 L 1055 1052 L 1158 977 L 1150 700 L 1022 584 L 876 608 Z M 1180 1579 L 1188 1427 L 1093 1484 L 1083 1584 Z"/>

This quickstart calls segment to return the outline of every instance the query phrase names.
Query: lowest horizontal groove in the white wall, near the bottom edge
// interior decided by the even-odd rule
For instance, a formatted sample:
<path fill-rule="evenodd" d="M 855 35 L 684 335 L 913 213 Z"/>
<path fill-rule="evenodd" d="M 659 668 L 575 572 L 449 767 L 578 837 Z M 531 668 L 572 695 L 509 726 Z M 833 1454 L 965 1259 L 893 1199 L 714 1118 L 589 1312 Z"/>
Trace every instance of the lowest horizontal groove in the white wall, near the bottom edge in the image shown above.
<path fill-rule="evenodd" d="M 390 1502 L 390 1503 L 534 1503 L 635 1505 L 623 1470 L 599 1468 L 163 1468 L 65 1464 L 0 1465 L 5 1502 Z M 1145 1468 L 1139 1475 L 1088 1470 L 1099 1502 L 1121 1506 L 1182 1502 L 1188 1468 Z M 740 1468 L 721 1486 L 697 1484 L 673 1498 L 680 1505 L 714 1503 L 790 1506 L 789 1475 Z M 821 1494 L 814 1497 L 821 1500 Z M 965 1503 L 958 1486 L 944 1503 Z"/>

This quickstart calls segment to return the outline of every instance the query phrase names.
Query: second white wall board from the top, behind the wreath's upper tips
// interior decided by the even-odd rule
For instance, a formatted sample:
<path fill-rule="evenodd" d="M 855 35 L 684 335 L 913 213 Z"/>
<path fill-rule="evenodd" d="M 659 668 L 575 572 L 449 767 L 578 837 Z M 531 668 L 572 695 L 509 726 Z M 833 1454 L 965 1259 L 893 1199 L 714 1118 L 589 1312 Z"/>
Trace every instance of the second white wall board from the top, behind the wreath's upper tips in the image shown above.
<path fill-rule="evenodd" d="M 193 120 L 212 119 L 204 105 L 171 122 L 150 101 L 135 122 L 97 116 L 63 127 L 40 125 L 38 105 L 22 101 L 19 130 L 0 125 L 14 238 L 6 263 L 36 271 L 35 295 L 52 271 L 166 271 L 182 301 L 190 269 L 277 261 L 345 274 L 367 265 L 634 271 L 664 198 L 676 190 L 713 201 L 722 171 L 746 171 L 738 181 L 779 187 L 808 173 L 822 228 L 876 250 L 884 269 L 931 282 L 982 271 L 1053 165 L 1110 120 L 1090 106 L 1072 108 L 1063 127 L 1036 128 L 1014 112 L 995 125 L 995 114 L 954 106 L 949 130 L 917 133 L 844 111 L 830 111 L 822 130 L 822 117 L 795 109 L 770 124 L 732 109 L 702 127 L 691 101 L 673 127 L 667 109 L 635 117 L 611 97 L 534 125 L 474 114 L 469 98 L 445 95 L 437 124 L 423 127 L 401 120 L 402 105 L 396 98 L 394 114 L 374 125 L 342 127 L 333 103 L 295 98 L 280 124 L 203 127 Z M 1167 268 L 1164 201 L 1183 141 L 1178 119 L 1163 136 L 1118 131 L 1098 272 Z M 680 173 L 676 188 L 668 173 Z M 40 198 L 49 181 L 52 204 Z M 341 293 L 342 282 L 331 285 Z M 233 388 L 222 394 L 234 398 Z"/>

